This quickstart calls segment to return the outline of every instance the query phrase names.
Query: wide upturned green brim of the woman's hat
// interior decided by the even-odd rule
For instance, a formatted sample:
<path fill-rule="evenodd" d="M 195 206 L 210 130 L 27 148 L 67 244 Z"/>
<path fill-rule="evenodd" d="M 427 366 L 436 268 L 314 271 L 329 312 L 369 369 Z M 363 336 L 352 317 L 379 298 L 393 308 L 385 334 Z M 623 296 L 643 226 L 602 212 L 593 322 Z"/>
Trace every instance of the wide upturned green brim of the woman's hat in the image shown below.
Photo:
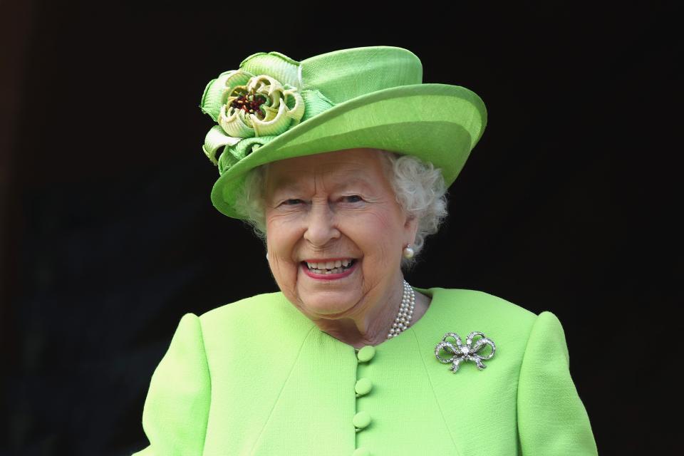
<path fill-rule="evenodd" d="M 464 87 L 434 83 L 378 90 L 339 103 L 244 157 L 214 183 L 212 203 L 222 214 L 242 219 L 233 201 L 249 170 L 276 160 L 357 147 L 432 162 L 449 186 L 486 125 L 484 103 Z"/>

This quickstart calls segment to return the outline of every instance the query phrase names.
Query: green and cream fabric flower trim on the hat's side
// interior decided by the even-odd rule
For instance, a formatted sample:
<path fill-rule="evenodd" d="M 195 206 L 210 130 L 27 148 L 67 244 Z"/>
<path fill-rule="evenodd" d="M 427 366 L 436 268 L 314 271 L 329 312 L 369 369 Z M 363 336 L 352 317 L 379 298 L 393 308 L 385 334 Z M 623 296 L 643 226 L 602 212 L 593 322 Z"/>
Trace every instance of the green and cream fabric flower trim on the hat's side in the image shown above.
<path fill-rule="evenodd" d="M 204 89 L 199 107 L 218 123 L 207 133 L 204 154 L 222 173 L 298 125 L 304 105 L 299 62 L 278 52 L 252 54 Z"/>

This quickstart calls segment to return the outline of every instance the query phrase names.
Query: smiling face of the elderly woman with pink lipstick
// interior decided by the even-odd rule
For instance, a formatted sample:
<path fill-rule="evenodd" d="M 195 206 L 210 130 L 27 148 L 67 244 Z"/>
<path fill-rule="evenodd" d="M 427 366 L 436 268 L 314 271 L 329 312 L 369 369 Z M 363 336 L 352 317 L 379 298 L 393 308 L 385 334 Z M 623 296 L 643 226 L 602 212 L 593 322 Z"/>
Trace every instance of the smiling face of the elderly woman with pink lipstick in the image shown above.
<path fill-rule="evenodd" d="M 395 199 L 380 152 L 272 162 L 265 174 L 269 264 L 306 316 L 357 318 L 401 297 L 400 261 L 417 223 Z"/>

